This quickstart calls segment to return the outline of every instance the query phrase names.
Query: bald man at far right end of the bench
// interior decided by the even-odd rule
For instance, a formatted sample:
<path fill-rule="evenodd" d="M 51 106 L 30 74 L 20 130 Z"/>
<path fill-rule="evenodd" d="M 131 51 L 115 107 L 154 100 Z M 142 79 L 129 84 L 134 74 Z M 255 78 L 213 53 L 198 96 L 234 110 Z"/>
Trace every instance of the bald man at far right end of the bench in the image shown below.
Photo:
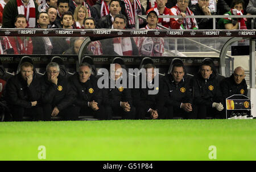
<path fill-rule="evenodd" d="M 245 70 L 242 67 L 237 67 L 234 73 L 229 77 L 225 78 L 221 83 L 222 96 L 224 102 L 226 98 L 234 94 L 243 94 L 247 96 L 247 84 L 245 81 Z"/>

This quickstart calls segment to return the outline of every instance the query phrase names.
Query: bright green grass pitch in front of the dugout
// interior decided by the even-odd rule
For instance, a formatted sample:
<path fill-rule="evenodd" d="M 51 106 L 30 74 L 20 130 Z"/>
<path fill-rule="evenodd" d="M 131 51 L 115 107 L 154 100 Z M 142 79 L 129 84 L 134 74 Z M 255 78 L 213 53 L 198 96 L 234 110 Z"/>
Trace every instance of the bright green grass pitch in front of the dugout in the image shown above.
<path fill-rule="evenodd" d="M 0 160 L 256 160 L 256 120 L 1 122 Z M 214 159 L 213 159 L 214 160 Z M 210 160 L 212 161 L 212 160 Z"/>

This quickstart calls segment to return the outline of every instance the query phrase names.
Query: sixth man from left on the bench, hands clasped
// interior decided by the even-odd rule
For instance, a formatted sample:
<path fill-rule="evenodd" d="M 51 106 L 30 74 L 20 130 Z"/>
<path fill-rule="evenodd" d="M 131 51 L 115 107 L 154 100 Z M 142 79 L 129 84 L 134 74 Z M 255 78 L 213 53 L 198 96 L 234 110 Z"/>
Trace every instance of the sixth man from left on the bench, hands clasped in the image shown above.
<path fill-rule="evenodd" d="M 168 109 L 167 119 L 196 118 L 192 107 L 190 83 L 185 78 L 185 66 L 182 63 L 174 63 L 171 73 L 164 77 L 163 82 L 164 95 L 167 96 L 165 98 L 165 106 Z"/>

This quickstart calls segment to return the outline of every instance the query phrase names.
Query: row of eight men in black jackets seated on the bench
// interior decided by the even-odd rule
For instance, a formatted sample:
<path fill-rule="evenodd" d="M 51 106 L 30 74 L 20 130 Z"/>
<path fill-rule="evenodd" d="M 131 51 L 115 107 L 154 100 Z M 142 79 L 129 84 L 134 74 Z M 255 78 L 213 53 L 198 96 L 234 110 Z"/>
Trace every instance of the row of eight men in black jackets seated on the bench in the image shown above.
<path fill-rule="evenodd" d="M 226 79 L 217 74 L 210 59 L 201 63 L 193 77 L 179 60 L 172 62 L 170 74 L 163 77 L 151 62 L 143 68 L 141 75 L 130 79 L 123 61 L 116 61 L 110 65 L 110 74 L 105 71 L 97 77 L 84 62 L 76 74 L 64 77 L 58 63 L 50 62 L 46 74 L 38 77 L 34 66 L 24 62 L 7 81 L 3 98 L 14 121 L 22 121 L 24 115 L 50 121 L 52 117 L 78 120 L 81 115 L 100 120 L 115 115 L 122 119 L 224 118 L 225 98 L 247 95 L 242 67 Z"/>

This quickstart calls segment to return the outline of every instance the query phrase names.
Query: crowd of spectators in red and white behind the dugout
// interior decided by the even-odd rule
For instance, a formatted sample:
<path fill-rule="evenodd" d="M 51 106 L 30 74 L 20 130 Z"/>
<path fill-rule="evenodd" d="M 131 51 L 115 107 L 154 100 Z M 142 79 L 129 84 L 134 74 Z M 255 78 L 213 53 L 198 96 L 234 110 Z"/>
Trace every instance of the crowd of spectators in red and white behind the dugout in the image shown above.
<path fill-rule="evenodd" d="M 122 16 L 125 25 L 116 29 L 134 29 L 135 16 L 147 15 L 147 19 L 139 19 L 141 29 L 213 29 L 212 18 L 185 18 L 188 15 L 227 15 L 227 18 L 217 19 L 218 29 L 247 29 L 251 28 L 251 20 L 246 18 L 228 18 L 228 15 L 255 14 L 254 1 L 244 0 L 0 0 L 0 25 L 2 28 L 64 28 L 64 29 L 91 29 L 114 28 L 116 16 Z M 146 10 L 145 10 L 146 9 Z M 154 16 L 148 14 L 154 11 Z M 159 16 L 177 15 L 181 18 L 159 18 Z M 155 19 L 154 19 L 155 17 Z M 23 19 L 22 19 L 23 18 Z M 20 20 L 22 19 L 23 24 Z M 90 20 L 87 20 L 90 19 Z M 118 18 L 119 19 L 119 18 Z M 90 21 L 89 23 L 86 21 Z M 116 20 L 116 22 L 118 22 Z M 255 23 L 255 22 L 254 22 Z M 90 24 L 90 26 L 89 26 Z M 158 24 L 158 25 L 157 25 Z M 76 39 L 76 38 L 75 38 Z M 28 46 L 32 41 L 33 46 Z M 143 41 L 150 45 L 142 46 Z M 75 53 L 71 38 L 11 38 L 1 37 L 1 54 L 70 54 Z M 104 41 L 103 41 L 104 42 Z M 106 41 L 105 41 L 106 42 Z M 115 50 L 110 54 L 123 55 L 118 47 L 127 43 L 128 49 L 134 46 L 134 55 L 162 55 L 163 40 L 134 38 L 132 41 L 121 38 L 113 40 Z M 38 43 L 38 44 L 37 44 Z M 15 44 L 15 45 L 14 45 Z M 42 48 L 43 47 L 43 48 Z M 106 54 L 102 41 L 91 44 L 89 54 Z M 148 48 L 151 49 L 148 49 Z M 138 49 L 138 53 L 137 50 Z M 144 50 L 143 50 L 144 49 Z M 106 49 L 110 51 L 112 49 Z M 129 50 L 128 50 L 129 51 Z M 155 53 L 153 53 L 155 52 Z"/>

